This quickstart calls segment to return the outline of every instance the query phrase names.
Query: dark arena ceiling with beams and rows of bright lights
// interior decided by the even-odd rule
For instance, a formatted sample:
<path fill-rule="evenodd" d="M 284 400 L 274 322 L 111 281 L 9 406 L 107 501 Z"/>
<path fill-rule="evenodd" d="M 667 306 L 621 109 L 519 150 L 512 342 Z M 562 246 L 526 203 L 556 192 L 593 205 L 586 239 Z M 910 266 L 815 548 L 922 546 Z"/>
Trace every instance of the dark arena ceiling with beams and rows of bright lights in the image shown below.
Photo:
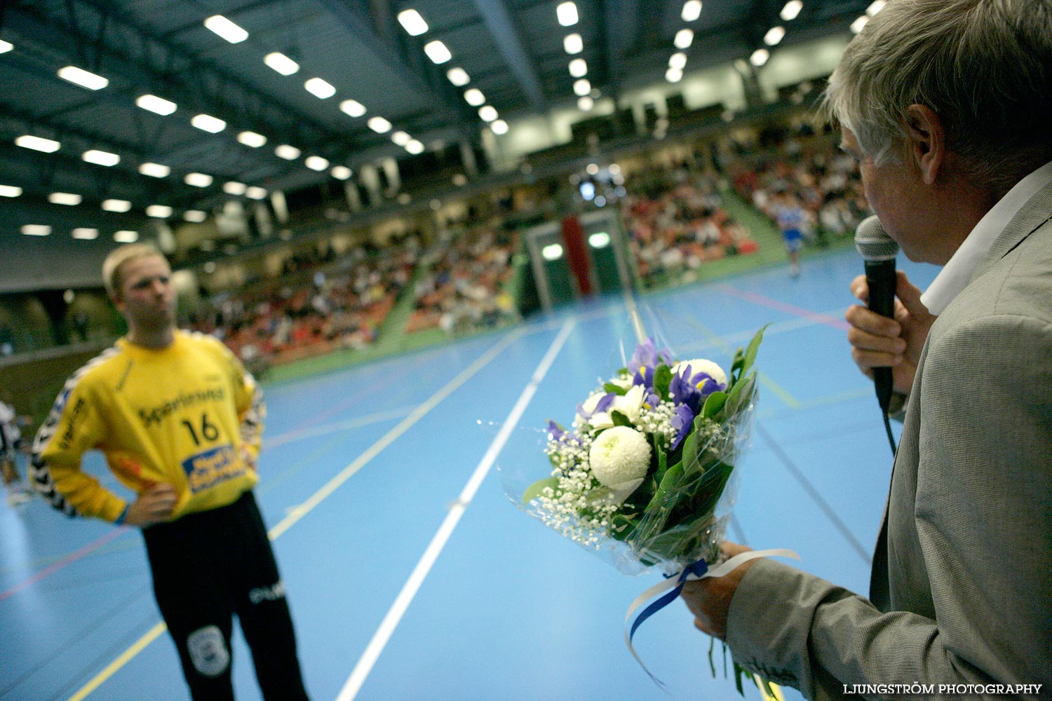
<path fill-rule="evenodd" d="M 683 29 L 693 33 L 684 49 L 689 74 L 749 57 L 773 26 L 787 30 L 780 45 L 848 33 L 870 0 L 803 0 L 789 21 L 780 18 L 785 0 L 705 0 L 696 18 L 691 7 L 702 3 L 685 8 L 684 0 L 578 0 L 575 22 L 565 26 L 563 4 L 0 3 L 0 191 L 6 195 L 0 197 L 0 247 L 12 250 L 12 242 L 24 240 L 24 226 L 42 225 L 50 227 L 48 247 L 108 248 L 115 231 L 147 226 L 151 205 L 162 206 L 151 213 L 175 225 L 187 210 L 208 212 L 231 197 L 346 176 L 338 166 L 412 158 L 410 150 L 436 143 L 478 143 L 493 126 L 486 121 L 492 115 L 480 115 L 486 106 L 512 123 L 572 107 L 579 80 L 568 69 L 573 59 L 584 60 L 583 77 L 595 95 L 616 98 L 665 80 Z M 411 36 L 403 27 L 407 9 L 424 19 L 426 32 Z M 236 43 L 222 38 L 205 25 L 214 16 L 246 36 Z M 575 47 L 566 45 L 567 35 L 579 35 L 578 53 L 568 54 Z M 428 57 L 434 41 L 449 60 Z M 282 75 L 264 63 L 275 54 L 298 69 Z M 95 78 L 69 74 L 69 66 Z M 469 82 L 454 85 L 451 68 L 463 69 Z M 92 80 L 98 80 L 92 87 L 78 84 Z M 471 88 L 481 91 L 482 103 L 468 104 Z M 143 96 L 163 101 L 144 103 Z M 470 97 L 478 102 L 479 96 Z M 377 117 L 389 129 L 377 130 L 383 126 L 370 122 Z M 396 132 L 411 141 L 392 143 Z M 295 150 L 281 158 L 279 146 Z M 197 185 L 190 184 L 195 173 L 205 176 Z M 74 229 L 100 233 L 78 241 Z"/>

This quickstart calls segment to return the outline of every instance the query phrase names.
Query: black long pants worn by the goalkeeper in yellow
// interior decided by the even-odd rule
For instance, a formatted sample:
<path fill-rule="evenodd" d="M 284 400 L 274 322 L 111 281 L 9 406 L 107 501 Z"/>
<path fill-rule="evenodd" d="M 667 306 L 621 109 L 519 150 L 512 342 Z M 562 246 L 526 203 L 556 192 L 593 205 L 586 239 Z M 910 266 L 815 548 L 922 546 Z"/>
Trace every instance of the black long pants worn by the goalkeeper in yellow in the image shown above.
<path fill-rule="evenodd" d="M 306 701 L 284 585 L 251 492 L 234 503 L 143 529 L 154 595 L 195 701 L 232 701 L 232 616 L 263 698 Z"/>

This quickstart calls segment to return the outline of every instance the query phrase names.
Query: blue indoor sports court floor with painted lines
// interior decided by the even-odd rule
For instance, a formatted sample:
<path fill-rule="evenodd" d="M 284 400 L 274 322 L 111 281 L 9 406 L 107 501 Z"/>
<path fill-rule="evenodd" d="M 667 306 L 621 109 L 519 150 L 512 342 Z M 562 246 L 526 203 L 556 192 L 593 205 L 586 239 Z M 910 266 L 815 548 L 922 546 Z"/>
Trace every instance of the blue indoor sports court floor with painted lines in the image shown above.
<path fill-rule="evenodd" d="M 936 272 L 905 267 L 922 287 Z M 640 306 L 679 356 L 724 367 L 771 325 L 730 536 L 791 548 L 805 570 L 865 592 L 891 455 L 846 341 L 859 269 L 846 250 L 806 260 L 797 280 L 770 268 Z M 316 701 L 669 698 L 623 639 L 627 606 L 660 575 L 621 574 L 518 511 L 502 487 L 503 475 L 543 473 L 546 420 L 568 424 L 633 345 L 610 297 L 266 387 L 257 496 Z M 87 469 L 104 474 L 97 455 Z M 159 623 L 138 533 L 67 520 L 40 499 L 0 506 L 0 699 L 184 700 Z M 739 698 L 722 672 L 711 677 L 709 639 L 681 602 L 635 641 L 672 698 Z M 260 699 L 241 641 L 234 665 L 238 698 Z M 760 698 L 754 686 L 746 698 Z"/>

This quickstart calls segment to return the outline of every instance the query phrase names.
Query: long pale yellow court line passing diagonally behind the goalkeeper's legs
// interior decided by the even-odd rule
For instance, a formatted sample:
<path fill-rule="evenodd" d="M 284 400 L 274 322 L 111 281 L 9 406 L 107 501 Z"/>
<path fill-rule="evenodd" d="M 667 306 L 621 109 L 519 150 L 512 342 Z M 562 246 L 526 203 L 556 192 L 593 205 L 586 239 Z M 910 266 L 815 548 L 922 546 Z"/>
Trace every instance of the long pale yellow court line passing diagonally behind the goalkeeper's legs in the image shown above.
<path fill-rule="evenodd" d="M 283 534 L 285 531 L 290 529 L 298 520 L 307 515 L 315 507 L 322 502 L 326 497 L 328 497 L 332 492 L 337 490 L 341 484 L 350 479 L 350 477 L 361 470 L 365 465 L 376 457 L 384 448 L 394 442 L 394 440 L 405 433 L 413 424 L 419 421 L 424 417 L 429 411 L 434 409 L 440 401 L 445 399 L 447 396 L 453 393 L 461 385 L 466 383 L 471 378 L 472 375 L 478 373 L 484 367 L 489 365 L 493 358 L 504 352 L 504 349 L 510 346 L 512 343 L 518 341 L 523 335 L 522 327 L 515 329 L 511 333 L 504 336 L 500 343 L 494 345 L 488 351 L 483 353 L 479 358 L 464 369 L 459 375 L 450 379 L 440 389 L 438 392 L 432 394 L 430 398 L 424 404 L 417 407 L 416 410 L 408 416 L 406 416 L 398 426 L 392 428 L 390 431 L 384 434 L 380 440 L 369 446 L 364 453 L 358 456 L 358 458 L 348 465 L 346 468 L 341 470 L 336 477 L 326 482 L 320 490 L 315 492 L 306 501 L 301 503 L 299 507 L 292 509 L 285 518 L 283 518 L 276 527 L 270 529 L 267 535 L 270 540 L 276 540 L 278 536 Z M 146 645 L 154 642 L 158 636 L 164 633 L 167 626 L 164 622 L 159 622 L 157 625 L 151 627 L 146 635 L 139 638 L 137 641 L 132 643 L 132 646 L 121 653 L 117 659 L 110 662 L 106 667 L 97 674 L 89 682 L 84 684 L 76 694 L 74 694 L 67 701 L 81 701 L 88 694 L 97 689 L 103 684 L 107 679 L 113 677 L 117 672 L 127 664 L 132 658 L 141 653 Z"/>

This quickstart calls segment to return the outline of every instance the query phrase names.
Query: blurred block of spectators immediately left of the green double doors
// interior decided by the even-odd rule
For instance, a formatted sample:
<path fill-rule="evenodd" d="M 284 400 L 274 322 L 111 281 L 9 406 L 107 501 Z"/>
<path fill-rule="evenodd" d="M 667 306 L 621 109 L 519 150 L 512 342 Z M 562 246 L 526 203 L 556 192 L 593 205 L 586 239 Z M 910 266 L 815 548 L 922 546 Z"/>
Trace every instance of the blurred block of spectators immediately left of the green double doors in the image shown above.
<path fill-rule="evenodd" d="M 454 335 L 518 319 L 506 289 L 517 245 L 514 232 L 489 227 L 441 236 L 421 261 L 406 332 Z"/>

